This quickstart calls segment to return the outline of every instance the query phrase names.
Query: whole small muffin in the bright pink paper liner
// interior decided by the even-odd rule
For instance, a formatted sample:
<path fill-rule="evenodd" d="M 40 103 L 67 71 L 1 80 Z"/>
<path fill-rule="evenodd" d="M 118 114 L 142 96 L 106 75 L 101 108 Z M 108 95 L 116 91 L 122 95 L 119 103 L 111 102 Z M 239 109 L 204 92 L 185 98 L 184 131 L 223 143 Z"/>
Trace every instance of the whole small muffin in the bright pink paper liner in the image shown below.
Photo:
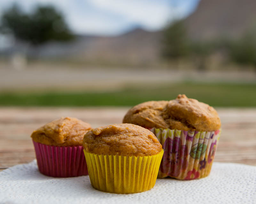
<path fill-rule="evenodd" d="M 39 171 L 52 177 L 88 175 L 83 138 L 91 125 L 62 117 L 35 130 L 32 135 Z"/>

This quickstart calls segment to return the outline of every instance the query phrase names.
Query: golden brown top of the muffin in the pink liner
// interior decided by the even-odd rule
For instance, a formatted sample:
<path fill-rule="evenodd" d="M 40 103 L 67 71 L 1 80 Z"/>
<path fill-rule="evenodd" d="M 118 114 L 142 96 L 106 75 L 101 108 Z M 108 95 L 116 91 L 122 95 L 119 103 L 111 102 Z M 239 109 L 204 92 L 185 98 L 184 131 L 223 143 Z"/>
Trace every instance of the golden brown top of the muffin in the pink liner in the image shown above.
<path fill-rule="evenodd" d="M 83 144 L 84 134 L 92 129 L 89 123 L 77 118 L 62 117 L 35 130 L 31 137 L 35 142 L 53 146 L 77 146 Z"/>

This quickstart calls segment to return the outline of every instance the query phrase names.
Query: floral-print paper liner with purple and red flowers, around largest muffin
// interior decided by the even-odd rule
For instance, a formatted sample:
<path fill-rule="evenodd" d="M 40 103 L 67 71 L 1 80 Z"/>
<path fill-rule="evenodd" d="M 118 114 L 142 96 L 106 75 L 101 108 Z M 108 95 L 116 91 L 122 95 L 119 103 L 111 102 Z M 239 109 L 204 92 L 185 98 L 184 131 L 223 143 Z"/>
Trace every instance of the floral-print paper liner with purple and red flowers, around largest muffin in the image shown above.
<path fill-rule="evenodd" d="M 220 130 L 200 132 L 152 128 L 150 131 L 164 149 L 158 178 L 169 176 L 191 180 L 210 174 Z"/>

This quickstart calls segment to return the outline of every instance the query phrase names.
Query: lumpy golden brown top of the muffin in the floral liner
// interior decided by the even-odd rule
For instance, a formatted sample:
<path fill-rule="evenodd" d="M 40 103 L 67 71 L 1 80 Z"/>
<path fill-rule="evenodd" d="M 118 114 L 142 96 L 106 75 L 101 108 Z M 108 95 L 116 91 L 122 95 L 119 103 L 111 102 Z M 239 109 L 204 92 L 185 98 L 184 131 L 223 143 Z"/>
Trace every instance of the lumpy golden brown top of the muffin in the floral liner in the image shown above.
<path fill-rule="evenodd" d="M 184 94 L 170 101 L 148 101 L 131 108 L 124 123 L 145 128 L 214 131 L 220 128 L 216 110 Z"/>

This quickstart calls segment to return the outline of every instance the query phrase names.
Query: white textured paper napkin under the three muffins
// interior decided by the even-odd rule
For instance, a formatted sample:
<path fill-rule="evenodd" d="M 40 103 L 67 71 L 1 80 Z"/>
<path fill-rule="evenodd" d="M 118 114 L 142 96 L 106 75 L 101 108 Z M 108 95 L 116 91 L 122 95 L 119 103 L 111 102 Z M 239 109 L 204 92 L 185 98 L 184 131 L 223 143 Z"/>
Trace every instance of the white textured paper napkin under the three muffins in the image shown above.
<path fill-rule="evenodd" d="M 89 176 L 53 178 L 42 175 L 36 160 L 0 172 L 0 203 L 256 203 L 256 166 L 214 162 L 210 176 L 190 181 L 157 179 L 149 191 L 104 193 Z"/>

